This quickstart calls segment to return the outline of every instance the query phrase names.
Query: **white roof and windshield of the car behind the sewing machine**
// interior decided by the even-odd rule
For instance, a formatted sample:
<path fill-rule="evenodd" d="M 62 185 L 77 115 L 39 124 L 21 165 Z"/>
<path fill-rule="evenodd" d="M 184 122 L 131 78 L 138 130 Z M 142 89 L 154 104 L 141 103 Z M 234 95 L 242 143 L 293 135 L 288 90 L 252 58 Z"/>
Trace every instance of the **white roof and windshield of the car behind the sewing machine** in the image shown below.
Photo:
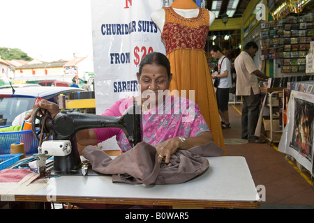
<path fill-rule="evenodd" d="M 33 105 L 42 99 L 57 103 L 61 93 L 68 100 L 68 93 L 83 91 L 85 90 L 58 86 L 17 88 L 15 93 L 13 89 L 0 89 L 0 125 L 11 125 L 16 116 L 33 109 Z"/>

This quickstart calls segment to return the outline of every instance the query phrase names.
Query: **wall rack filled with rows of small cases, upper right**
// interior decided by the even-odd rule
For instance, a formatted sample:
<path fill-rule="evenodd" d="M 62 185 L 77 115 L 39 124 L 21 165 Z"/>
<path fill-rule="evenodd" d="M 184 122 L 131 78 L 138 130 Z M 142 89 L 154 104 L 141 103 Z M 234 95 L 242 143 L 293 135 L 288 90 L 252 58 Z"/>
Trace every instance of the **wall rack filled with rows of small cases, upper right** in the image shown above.
<path fill-rule="evenodd" d="M 276 59 L 281 72 L 305 72 L 306 54 L 313 40 L 313 16 L 287 17 L 261 24 L 260 59 Z"/>

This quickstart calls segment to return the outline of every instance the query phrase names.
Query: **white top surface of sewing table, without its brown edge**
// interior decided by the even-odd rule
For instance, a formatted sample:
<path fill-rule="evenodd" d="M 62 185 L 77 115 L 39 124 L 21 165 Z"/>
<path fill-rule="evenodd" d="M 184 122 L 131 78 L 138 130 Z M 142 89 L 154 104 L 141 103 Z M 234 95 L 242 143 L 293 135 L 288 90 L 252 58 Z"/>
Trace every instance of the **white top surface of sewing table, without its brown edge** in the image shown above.
<path fill-rule="evenodd" d="M 112 176 L 61 176 L 50 178 L 49 186 L 34 195 L 257 203 L 260 198 L 244 157 L 207 158 L 209 169 L 202 176 L 177 185 L 112 183 Z"/>

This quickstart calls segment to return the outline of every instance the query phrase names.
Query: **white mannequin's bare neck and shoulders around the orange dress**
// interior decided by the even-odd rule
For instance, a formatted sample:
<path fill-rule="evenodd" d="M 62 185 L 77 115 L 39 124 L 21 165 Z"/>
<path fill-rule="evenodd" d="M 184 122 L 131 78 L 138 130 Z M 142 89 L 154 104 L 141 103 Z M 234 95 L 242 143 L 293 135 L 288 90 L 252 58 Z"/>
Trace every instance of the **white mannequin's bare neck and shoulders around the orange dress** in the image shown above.
<path fill-rule="evenodd" d="M 200 12 L 197 4 L 192 0 L 175 0 L 171 6 L 174 11 L 185 18 L 197 17 Z M 160 8 L 151 13 L 151 20 L 158 26 L 160 32 L 163 31 L 163 25 L 165 24 L 165 10 Z M 209 25 L 215 20 L 215 14 L 209 11 Z"/>

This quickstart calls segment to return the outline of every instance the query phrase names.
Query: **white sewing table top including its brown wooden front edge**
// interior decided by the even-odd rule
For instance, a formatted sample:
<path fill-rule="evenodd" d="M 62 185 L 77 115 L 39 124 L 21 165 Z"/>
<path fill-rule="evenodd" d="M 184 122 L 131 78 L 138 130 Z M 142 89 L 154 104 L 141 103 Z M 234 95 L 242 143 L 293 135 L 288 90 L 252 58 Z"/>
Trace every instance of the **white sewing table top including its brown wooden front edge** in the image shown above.
<path fill-rule="evenodd" d="M 209 169 L 177 185 L 112 183 L 112 176 L 61 176 L 15 201 L 257 208 L 260 197 L 244 157 L 208 157 Z"/>

